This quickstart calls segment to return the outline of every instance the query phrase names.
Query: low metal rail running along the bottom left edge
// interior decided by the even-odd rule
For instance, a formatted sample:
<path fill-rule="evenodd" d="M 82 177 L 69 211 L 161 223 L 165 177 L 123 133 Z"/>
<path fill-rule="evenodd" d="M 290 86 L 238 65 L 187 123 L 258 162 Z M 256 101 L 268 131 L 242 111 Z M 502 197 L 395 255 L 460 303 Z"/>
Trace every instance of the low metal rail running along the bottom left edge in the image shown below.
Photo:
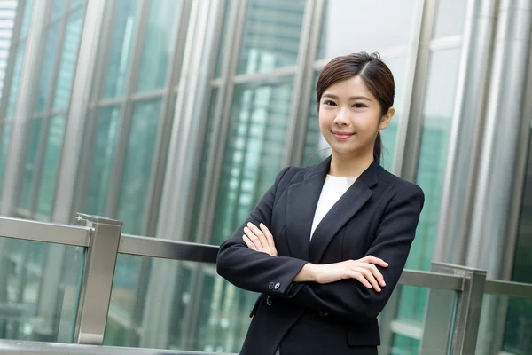
<path fill-rule="evenodd" d="M 17 340 L 0 340 L 0 353 L 24 355 L 214 355 L 204 351 L 170 351 L 118 346 L 81 345 L 70 343 L 42 343 Z M 216 353 L 216 355 L 223 355 Z M 226 354 L 229 355 L 229 354 Z"/>

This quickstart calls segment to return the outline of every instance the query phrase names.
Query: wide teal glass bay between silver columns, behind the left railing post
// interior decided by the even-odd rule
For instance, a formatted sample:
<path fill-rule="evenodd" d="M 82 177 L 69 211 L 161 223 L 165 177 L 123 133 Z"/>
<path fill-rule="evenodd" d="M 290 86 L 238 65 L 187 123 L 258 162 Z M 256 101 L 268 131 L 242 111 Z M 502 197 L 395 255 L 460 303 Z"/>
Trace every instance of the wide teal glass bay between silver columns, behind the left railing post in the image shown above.
<path fill-rule="evenodd" d="M 176 104 L 184 1 L 106 4 L 105 39 L 87 115 L 89 132 L 77 209 L 123 222 L 122 233 L 153 236 Z M 180 49 L 181 48 L 181 49 Z M 97 49 L 95 49 L 97 50 Z M 151 261 L 119 256 L 105 343 L 138 346 Z"/>

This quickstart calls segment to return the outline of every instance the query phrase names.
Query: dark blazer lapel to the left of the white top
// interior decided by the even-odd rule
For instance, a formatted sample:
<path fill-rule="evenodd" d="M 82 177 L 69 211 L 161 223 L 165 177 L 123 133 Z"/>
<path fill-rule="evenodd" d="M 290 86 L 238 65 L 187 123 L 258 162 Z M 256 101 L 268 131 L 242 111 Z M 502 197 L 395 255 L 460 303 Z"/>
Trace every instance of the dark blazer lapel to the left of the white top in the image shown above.
<path fill-rule="evenodd" d="M 293 257 L 309 260 L 309 240 L 317 201 L 331 166 L 331 157 L 309 170 L 303 181 L 288 187 L 286 242 Z"/>

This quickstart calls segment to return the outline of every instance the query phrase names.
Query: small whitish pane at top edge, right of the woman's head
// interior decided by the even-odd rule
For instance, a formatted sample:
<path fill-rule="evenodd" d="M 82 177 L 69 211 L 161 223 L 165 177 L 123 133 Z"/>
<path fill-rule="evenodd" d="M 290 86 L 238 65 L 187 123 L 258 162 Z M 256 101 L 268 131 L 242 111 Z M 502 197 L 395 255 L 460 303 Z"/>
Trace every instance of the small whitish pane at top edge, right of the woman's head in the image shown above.
<path fill-rule="evenodd" d="M 438 1 L 433 38 L 464 34 L 467 2 L 463 0 Z"/>

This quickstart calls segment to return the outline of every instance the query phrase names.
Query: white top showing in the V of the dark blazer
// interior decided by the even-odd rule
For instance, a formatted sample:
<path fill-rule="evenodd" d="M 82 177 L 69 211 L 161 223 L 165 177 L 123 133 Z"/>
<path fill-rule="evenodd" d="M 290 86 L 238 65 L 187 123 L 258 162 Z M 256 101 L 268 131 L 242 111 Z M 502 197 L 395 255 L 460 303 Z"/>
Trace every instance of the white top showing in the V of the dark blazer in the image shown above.
<path fill-rule="evenodd" d="M 317 225 L 319 225 L 327 212 L 332 209 L 332 206 L 340 200 L 340 197 L 348 191 L 349 186 L 355 183 L 355 180 L 355 177 L 333 177 L 327 174 L 324 187 L 317 201 L 316 213 L 314 214 L 314 221 L 312 222 L 312 229 L 310 231 L 310 239 L 312 239 Z"/>

